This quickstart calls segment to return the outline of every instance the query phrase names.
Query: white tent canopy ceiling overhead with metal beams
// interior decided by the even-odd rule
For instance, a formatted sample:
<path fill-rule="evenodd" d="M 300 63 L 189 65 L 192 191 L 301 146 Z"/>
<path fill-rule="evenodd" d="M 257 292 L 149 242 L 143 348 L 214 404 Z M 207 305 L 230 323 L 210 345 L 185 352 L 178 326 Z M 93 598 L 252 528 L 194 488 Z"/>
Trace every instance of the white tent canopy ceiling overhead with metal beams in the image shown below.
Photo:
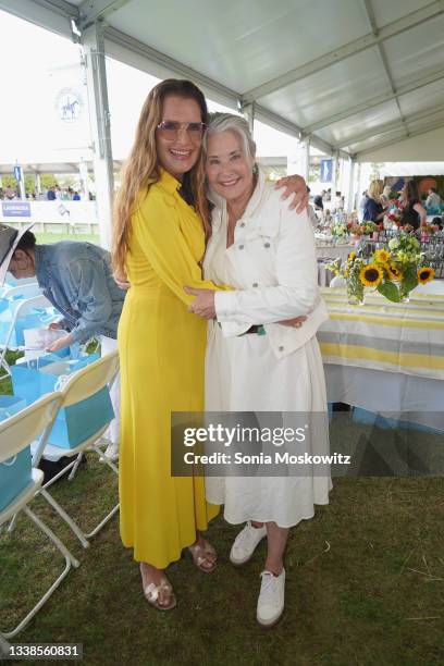
<path fill-rule="evenodd" d="M 444 126 L 441 0 L 0 0 L 0 8 L 69 37 L 73 21 L 79 33 L 102 21 L 111 57 L 193 78 L 232 107 L 254 103 L 256 118 L 328 153 L 363 160 Z"/>

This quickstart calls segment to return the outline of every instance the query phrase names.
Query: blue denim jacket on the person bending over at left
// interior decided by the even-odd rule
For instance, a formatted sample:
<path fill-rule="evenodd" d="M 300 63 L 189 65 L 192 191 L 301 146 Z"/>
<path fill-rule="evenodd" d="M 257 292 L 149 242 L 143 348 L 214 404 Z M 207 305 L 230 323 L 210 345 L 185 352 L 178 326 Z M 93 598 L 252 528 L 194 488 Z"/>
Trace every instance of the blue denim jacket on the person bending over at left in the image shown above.
<path fill-rule="evenodd" d="M 92 335 L 116 338 L 125 292 L 114 282 L 109 251 L 90 243 L 36 245 L 36 276 L 63 314 L 74 342 Z"/>

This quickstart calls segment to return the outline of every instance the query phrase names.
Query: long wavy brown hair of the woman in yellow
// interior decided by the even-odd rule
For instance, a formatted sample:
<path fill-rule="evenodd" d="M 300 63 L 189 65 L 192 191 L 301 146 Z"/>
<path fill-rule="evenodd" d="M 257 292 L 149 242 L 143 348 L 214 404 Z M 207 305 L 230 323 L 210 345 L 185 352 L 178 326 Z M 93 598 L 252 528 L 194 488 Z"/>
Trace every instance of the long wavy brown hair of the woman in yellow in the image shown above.
<path fill-rule="evenodd" d="M 156 148 L 156 130 L 162 121 L 162 109 L 168 96 L 194 99 L 200 108 L 201 122 L 208 124 L 208 109 L 203 94 L 190 81 L 168 78 L 158 84 L 145 100 L 137 123 L 136 136 L 126 160 L 122 185 L 114 200 L 112 264 L 116 278 L 126 275 L 126 258 L 130 252 L 131 218 L 135 212 L 139 195 L 160 178 L 160 163 Z M 202 151 L 196 164 L 184 174 L 181 195 L 195 207 L 206 237 L 210 235 L 210 212 L 205 190 L 205 165 Z"/>

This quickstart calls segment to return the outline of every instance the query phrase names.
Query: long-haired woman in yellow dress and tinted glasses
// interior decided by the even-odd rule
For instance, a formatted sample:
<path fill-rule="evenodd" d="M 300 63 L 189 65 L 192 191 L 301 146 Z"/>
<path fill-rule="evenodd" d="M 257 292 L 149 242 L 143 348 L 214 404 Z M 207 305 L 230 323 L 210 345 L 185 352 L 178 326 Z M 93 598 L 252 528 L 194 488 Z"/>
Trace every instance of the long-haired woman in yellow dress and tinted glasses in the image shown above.
<path fill-rule="evenodd" d="M 202 571 L 215 567 L 201 532 L 219 509 L 206 502 L 202 478 L 171 476 L 170 455 L 171 412 L 203 409 L 206 322 L 188 311 L 194 297 L 184 286 L 220 288 L 200 268 L 210 232 L 200 150 L 207 121 L 193 83 L 157 85 L 114 211 L 115 275 L 131 283 L 119 326 L 121 535 L 140 563 L 147 601 L 162 610 L 176 604 L 164 568 L 184 547 Z"/>

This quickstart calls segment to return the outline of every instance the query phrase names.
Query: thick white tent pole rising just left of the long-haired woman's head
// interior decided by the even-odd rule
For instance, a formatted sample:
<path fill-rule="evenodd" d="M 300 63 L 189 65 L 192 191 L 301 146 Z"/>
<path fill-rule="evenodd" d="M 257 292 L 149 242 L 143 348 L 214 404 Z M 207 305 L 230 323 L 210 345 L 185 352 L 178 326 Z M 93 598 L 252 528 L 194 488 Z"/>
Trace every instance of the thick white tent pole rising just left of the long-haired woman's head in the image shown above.
<path fill-rule="evenodd" d="M 108 103 L 107 69 L 104 62 L 103 27 L 100 22 L 83 34 L 86 81 L 88 89 L 89 125 L 92 138 L 94 174 L 99 219 L 100 244 L 111 247 L 112 200 L 114 174 L 111 148 L 111 123 Z"/>

